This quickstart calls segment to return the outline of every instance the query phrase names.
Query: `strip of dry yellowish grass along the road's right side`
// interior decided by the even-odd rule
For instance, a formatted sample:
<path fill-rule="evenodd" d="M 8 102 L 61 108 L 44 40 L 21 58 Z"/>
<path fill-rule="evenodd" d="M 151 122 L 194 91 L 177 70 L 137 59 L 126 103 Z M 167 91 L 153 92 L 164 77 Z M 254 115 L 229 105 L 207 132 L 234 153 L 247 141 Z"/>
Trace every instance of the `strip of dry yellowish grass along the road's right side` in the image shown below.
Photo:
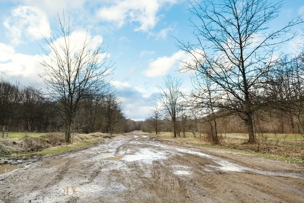
<path fill-rule="evenodd" d="M 157 137 L 165 140 L 172 140 L 179 143 L 187 143 L 194 145 L 201 145 L 205 147 L 215 147 L 221 149 L 227 149 L 232 151 L 240 151 L 245 153 L 254 154 L 259 157 L 267 157 L 272 159 L 278 159 L 283 161 L 290 161 L 300 165 L 304 165 L 304 141 L 284 139 L 284 136 L 277 136 L 274 134 L 257 134 L 256 144 L 248 144 L 246 137 L 242 136 L 221 136 L 220 145 L 212 145 L 211 142 L 206 139 L 204 134 L 193 136 L 192 133 L 187 133 L 186 138 L 178 137 L 173 138 L 170 132 L 161 132 Z M 156 136 L 156 134 L 149 133 L 150 136 Z M 248 138 L 248 136 L 247 136 Z"/>

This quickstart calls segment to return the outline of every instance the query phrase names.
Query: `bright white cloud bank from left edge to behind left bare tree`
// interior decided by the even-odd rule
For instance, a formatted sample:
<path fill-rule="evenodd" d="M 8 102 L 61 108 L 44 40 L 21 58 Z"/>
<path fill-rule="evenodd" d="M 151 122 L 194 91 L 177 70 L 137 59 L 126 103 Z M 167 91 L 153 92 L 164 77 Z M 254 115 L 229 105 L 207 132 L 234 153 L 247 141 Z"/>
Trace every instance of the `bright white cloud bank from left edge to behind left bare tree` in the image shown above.
<path fill-rule="evenodd" d="M 69 47 L 72 50 L 71 55 L 77 54 L 83 47 L 85 37 L 86 40 L 91 39 L 91 43 L 86 47 L 86 57 L 90 57 L 90 49 L 94 49 L 97 44 L 102 42 L 101 36 L 90 36 L 86 31 L 75 31 L 72 32 L 69 37 Z M 63 38 L 59 38 L 54 41 L 52 46 L 62 47 L 64 43 Z M 64 54 L 63 50 L 57 49 L 59 54 Z M 42 73 L 41 61 L 45 59 L 49 64 L 56 64 L 56 56 L 51 51 L 48 55 L 27 55 L 16 53 L 15 49 L 6 44 L 0 43 L 0 75 L 10 80 L 19 80 L 22 83 L 40 81 L 39 74 Z M 101 53 L 100 60 L 104 59 L 108 53 Z M 64 57 L 63 57 L 64 58 Z M 84 58 L 85 60 L 85 58 Z M 71 61 L 72 63 L 75 61 Z"/>

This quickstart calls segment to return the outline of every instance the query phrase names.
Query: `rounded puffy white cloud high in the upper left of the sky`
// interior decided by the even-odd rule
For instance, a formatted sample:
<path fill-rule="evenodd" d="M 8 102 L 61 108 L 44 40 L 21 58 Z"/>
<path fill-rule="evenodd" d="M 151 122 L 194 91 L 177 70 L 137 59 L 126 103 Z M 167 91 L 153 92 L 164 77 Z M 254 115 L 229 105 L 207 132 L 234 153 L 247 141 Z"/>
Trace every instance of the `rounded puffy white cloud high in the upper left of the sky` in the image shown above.
<path fill-rule="evenodd" d="M 33 41 L 42 36 L 50 36 L 50 24 L 47 15 L 36 7 L 19 6 L 11 10 L 11 15 L 3 22 L 8 29 L 7 35 L 13 44 L 24 40 Z"/>

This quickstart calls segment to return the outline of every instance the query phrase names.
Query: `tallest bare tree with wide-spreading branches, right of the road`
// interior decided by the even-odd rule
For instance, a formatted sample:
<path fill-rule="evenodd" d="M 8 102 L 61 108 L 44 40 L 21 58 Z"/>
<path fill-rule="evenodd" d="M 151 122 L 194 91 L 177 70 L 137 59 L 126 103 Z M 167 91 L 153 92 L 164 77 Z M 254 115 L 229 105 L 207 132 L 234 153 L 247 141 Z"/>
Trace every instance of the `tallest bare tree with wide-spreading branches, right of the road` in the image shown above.
<path fill-rule="evenodd" d="M 221 98 L 214 106 L 240 116 L 247 125 L 248 143 L 255 142 L 253 116 L 260 108 L 261 86 L 277 60 L 274 53 L 292 39 L 299 16 L 273 31 L 269 23 L 278 16 L 282 2 L 268 0 L 205 0 L 190 2 L 196 43 L 178 41 L 177 46 L 193 60 L 184 71 L 203 74 L 217 85 Z M 206 71 L 209 70 L 209 71 Z"/>

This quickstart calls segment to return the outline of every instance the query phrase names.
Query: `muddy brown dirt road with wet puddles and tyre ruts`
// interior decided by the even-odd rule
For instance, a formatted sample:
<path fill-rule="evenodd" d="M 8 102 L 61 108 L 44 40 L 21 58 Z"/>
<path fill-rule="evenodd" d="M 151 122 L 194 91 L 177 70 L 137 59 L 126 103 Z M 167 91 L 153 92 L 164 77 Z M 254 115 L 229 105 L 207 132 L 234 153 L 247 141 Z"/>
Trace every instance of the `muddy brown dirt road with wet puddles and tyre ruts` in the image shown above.
<path fill-rule="evenodd" d="M 0 176 L 0 202 L 304 202 L 303 168 L 139 132 Z"/>

